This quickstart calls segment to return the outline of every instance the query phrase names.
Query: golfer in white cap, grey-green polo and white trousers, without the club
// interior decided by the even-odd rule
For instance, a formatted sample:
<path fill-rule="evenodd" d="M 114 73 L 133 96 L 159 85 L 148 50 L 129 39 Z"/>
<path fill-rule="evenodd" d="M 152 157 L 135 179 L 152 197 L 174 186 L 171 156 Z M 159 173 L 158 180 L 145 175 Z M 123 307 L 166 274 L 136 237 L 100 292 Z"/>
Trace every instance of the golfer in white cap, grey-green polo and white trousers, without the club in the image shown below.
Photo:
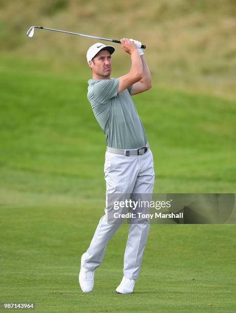
<path fill-rule="evenodd" d="M 105 133 L 106 181 L 105 214 L 99 220 L 88 250 L 81 257 L 79 284 L 91 292 L 94 271 L 101 264 L 106 244 L 120 226 L 108 223 L 109 194 L 152 194 L 154 186 L 153 154 L 145 130 L 131 98 L 152 86 L 141 42 L 123 38 L 122 49 L 131 55 L 131 69 L 119 78 L 110 78 L 115 48 L 97 42 L 87 52 L 93 78 L 88 81 L 88 100 L 95 118 Z M 143 104 L 145 105 L 145 104 Z M 149 231 L 149 222 L 131 223 L 124 253 L 123 279 L 116 288 L 119 294 L 133 292 Z"/>

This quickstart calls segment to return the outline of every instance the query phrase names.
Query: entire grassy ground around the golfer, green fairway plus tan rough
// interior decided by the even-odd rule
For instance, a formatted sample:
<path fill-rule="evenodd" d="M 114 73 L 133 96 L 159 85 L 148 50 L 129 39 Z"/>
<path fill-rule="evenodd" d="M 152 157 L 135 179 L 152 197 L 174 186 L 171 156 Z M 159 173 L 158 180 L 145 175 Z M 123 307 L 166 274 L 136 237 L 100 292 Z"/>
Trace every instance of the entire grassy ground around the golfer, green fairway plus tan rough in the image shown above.
<path fill-rule="evenodd" d="M 93 293 L 81 292 L 80 256 L 105 193 L 104 134 L 84 64 L 94 41 L 40 30 L 25 36 L 44 24 L 145 38 L 153 88 L 133 99 L 154 154 L 154 192 L 233 193 L 235 8 L 211 3 L 0 2 L 0 302 L 35 302 L 39 312 L 235 311 L 234 225 L 151 225 L 135 292 L 117 295 L 122 225 Z M 121 16 L 119 28 L 110 26 Z M 118 47 L 113 77 L 130 66 Z"/>

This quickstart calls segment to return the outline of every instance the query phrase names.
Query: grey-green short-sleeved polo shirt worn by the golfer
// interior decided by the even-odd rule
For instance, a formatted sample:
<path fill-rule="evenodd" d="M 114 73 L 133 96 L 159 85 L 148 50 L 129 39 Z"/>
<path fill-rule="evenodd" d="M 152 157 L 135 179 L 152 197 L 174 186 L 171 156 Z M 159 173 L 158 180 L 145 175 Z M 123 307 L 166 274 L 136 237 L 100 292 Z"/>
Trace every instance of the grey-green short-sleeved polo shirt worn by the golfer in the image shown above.
<path fill-rule="evenodd" d="M 106 145 L 117 149 L 145 146 L 145 130 L 130 94 L 132 85 L 118 94 L 119 78 L 90 79 L 88 83 L 88 100 Z"/>

